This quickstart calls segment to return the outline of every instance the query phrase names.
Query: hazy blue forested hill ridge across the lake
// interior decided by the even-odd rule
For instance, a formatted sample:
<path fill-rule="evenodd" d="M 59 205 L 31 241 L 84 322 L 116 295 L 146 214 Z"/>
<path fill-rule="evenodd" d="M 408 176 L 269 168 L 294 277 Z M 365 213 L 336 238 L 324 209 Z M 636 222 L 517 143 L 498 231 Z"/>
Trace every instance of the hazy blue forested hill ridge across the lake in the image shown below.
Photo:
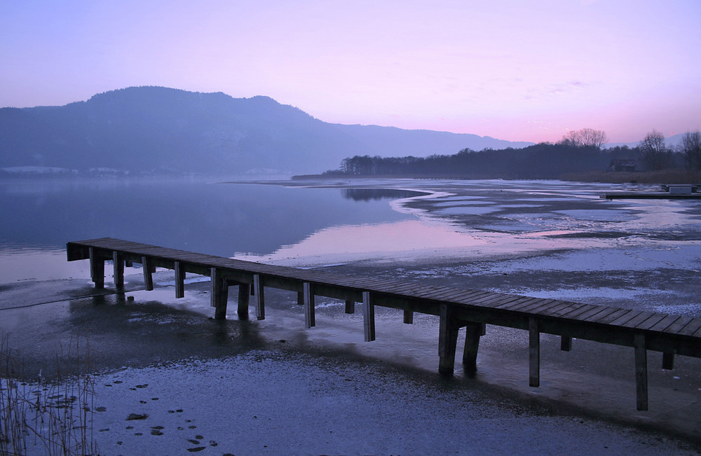
<path fill-rule="evenodd" d="M 531 143 L 325 123 L 269 97 L 138 87 L 65 106 L 0 109 L 0 168 L 314 173 L 355 155 L 430 156 Z"/>

